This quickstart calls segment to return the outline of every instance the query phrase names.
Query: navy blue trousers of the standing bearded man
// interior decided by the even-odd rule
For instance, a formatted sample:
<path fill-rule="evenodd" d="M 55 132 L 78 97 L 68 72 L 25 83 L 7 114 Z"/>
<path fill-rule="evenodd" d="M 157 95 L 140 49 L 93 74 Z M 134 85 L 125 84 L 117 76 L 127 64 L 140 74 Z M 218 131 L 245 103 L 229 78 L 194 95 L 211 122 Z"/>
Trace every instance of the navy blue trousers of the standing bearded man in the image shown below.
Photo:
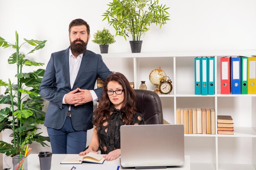
<path fill-rule="evenodd" d="M 79 154 L 86 147 L 87 130 L 74 130 L 71 117 L 67 117 L 61 129 L 48 128 L 52 153 Z"/>

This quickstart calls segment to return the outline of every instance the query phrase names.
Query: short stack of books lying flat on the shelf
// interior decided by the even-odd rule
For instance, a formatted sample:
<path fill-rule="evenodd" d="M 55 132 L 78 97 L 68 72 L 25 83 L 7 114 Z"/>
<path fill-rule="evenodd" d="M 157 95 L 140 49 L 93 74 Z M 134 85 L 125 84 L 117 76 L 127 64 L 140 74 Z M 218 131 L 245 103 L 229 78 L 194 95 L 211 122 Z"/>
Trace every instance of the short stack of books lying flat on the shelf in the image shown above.
<path fill-rule="evenodd" d="M 218 115 L 218 134 L 234 135 L 234 122 L 231 116 Z"/>

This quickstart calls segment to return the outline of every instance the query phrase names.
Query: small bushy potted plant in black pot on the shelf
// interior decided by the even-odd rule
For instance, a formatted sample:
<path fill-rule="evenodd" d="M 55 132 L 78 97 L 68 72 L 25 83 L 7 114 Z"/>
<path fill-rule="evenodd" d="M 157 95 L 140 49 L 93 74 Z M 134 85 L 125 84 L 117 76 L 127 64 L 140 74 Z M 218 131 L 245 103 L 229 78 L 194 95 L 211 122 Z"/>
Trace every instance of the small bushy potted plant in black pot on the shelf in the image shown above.
<path fill-rule="evenodd" d="M 93 34 L 94 40 L 92 42 L 99 44 L 101 53 L 108 53 L 109 44 L 113 44 L 115 41 L 114 35 L 112 35 L 108 29 L 103 28 L 102 31 L 98 30 Z"/>

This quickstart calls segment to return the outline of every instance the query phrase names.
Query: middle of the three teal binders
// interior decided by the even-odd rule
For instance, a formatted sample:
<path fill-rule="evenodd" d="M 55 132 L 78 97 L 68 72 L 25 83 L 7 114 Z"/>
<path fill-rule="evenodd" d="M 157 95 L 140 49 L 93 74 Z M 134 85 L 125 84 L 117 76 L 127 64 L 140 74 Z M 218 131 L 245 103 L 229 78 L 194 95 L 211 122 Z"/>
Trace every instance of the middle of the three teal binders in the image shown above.
<path fill-rule="evenodd" d="M 201 58 L 201 95 L 208 95 L 208 58 Z"/>

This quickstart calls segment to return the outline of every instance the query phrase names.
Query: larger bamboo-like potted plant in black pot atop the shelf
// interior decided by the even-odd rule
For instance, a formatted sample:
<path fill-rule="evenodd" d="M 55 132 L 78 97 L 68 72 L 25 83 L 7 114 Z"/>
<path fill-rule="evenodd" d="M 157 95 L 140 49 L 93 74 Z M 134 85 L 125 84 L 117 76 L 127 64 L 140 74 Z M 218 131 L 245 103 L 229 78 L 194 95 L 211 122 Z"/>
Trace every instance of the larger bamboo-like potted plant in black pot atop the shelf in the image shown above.
<path fill-rule="evenodd" d="M 103 13 L 103 20 L 108 20 L 116 30 L 116 35 L 132 36 L 130 46 L 132 53 L 140 53 L 144 35 L 150 28 L 150 24 L 166 24 L 169 13 L 166 5 L 159 5 L 158 0 L 113 0 L 108 4 L 108 10 Z"/>

